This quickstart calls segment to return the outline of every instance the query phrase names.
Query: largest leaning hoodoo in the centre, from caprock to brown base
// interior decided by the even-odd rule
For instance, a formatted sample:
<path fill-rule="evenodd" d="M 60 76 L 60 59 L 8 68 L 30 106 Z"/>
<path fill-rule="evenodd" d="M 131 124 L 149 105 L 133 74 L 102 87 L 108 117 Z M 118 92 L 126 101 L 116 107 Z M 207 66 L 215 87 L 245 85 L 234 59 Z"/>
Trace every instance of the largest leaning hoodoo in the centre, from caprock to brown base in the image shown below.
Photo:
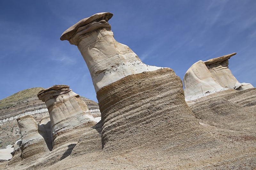
<path fill-rule="evenodd" d="M 142 63 L 128 46 L 117 42 L 108 24 L 112 15 L 82 19 L 60 38 L 78 47 L 91 73 L 101 111 L 103 150 L 199 142 L 204 132 L 184 100 L 180 78 L 170 68 Z"/>

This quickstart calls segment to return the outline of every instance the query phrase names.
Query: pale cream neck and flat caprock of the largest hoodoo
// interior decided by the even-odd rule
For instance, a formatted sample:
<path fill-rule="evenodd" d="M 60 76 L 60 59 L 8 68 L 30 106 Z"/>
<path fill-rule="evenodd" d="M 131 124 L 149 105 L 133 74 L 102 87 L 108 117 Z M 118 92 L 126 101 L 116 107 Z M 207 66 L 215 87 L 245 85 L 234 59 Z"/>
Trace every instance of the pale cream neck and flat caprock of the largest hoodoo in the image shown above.
<path fill-rule="evenodd" d="M 84 18 L 60 37 L 60 40 L 68 40 L 80 50 L 96 92 L 128 75 L 160 69 L 142 63 L 128 46 L 114 39 L 108 24 L 112 15 L 103 12 Z"/>

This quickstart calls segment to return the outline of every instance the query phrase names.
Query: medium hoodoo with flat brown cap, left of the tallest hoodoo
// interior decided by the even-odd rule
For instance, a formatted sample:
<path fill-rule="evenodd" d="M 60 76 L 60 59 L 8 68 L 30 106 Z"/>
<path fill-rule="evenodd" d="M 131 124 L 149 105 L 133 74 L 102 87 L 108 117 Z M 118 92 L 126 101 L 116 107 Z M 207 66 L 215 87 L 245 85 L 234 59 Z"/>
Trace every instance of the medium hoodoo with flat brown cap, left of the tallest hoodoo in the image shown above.
<path fill-rule="evenodd" d="M 45 102 L 50 114 L 53 149 L 69 145 L 72 151 L 84 128 L 97 123 L 84 101 L 68 85 L 54 85 L 37 96 Z"/>

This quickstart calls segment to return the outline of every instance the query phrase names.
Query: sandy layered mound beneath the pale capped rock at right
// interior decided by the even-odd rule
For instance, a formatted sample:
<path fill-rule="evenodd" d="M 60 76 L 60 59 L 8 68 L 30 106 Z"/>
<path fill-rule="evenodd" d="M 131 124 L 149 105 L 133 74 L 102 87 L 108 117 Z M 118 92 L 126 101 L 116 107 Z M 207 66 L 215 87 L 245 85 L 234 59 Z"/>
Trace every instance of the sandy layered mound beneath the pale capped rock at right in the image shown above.
<path fill-rule="evenodd" d="M 187 103 L 196 118 L 204 124 L 256 137 L 255 98 L 256 88 L 243 91 L 228 89 Z"/>

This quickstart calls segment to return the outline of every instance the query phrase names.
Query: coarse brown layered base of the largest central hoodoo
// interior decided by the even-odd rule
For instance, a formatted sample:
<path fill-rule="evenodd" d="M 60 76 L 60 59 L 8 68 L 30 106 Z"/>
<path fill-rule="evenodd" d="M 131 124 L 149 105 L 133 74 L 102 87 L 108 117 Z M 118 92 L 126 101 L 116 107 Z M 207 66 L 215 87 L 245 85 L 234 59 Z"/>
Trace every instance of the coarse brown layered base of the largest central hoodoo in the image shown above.
<path fill-rule="evenodd" d="M 182 82 L 169 68 L 129 75 L 100 89 L 97 98 L 105 150 L 169 150 L 204 138 Z"/>

